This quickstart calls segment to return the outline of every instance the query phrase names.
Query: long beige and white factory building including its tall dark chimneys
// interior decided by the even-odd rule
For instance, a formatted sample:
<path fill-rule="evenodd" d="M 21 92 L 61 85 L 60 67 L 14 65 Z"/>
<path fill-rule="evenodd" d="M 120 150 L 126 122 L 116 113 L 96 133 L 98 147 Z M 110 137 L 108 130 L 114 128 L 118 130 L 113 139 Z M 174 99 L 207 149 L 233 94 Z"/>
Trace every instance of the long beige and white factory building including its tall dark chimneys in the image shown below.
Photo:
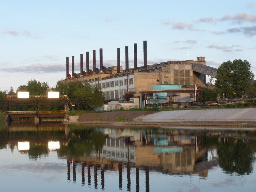
<path fill-rule="evenodd" d="M 180 88 L 182 86 L 181 89 L 188 89 L 189 87 L 194 89 L 195 84 L 206 84 L 207 75 L 211 79 L 217 75 L 216 68 L 206 65 L 205 57 L 197 57 L 196 60 L 167 61 L 148 65 L 147 41 L 143 41 L 144 65 L 142 67 L 138 67 L 137 64 L 137 44 L 134 44 L 133 48 L 133 68 L 129 68 L 128 46 L 125 46 L 124 70 L 120 65 L 120 48 L 117 48 L 117 66 L 104 67 L 102 52 L 102 49 L 99 49 L 99 68 L 97 68 L 96 51 L 93 50 L 92 70 L 89 68 L 89 52 L 86 52 L 86 71 L 83 71 L 83 54 L 80 54 L 79 74 L 74 72 L 74 56 L 72 56 L 72 74 L 69 74 L 69 57 L 67 57 L 66 79 L 63 80 L 63 83 L 69 81 L 89 83 L 92 87 L 97 86 L 102 89 L 106 101 L 114 101 L 123 98 L 126 93 L 136 94 L 141 91 L 153 91 L 155 90 L 153 89 L 154 85 L 180 85 Z M 182 100 L 183 96 L 177 93 L 172 93 L 173 96 L 175 95 L 173 99 L 175 101 Z M 188 94 L 187 91 L 185 97 Z M 194 91 L 192 91 L 192 94 L 194 94 Z"/>

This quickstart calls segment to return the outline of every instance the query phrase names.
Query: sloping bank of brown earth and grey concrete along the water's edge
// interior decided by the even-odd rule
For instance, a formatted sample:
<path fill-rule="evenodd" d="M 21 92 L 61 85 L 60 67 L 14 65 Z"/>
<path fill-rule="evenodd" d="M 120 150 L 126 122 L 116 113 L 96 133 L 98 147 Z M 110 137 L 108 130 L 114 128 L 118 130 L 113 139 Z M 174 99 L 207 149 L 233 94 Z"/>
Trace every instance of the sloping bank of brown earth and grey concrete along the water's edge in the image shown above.
<path fill-rule="evenodd" d="M 123 122 L 116 121 L 122 116 Z M 199 126 L 199 127 L 256 127 L 256 108 L 207 109 L 174 111 L 124 111 L 84 113 L 78 121 L 67 123 L 106 124 L 118 126 Z"/>

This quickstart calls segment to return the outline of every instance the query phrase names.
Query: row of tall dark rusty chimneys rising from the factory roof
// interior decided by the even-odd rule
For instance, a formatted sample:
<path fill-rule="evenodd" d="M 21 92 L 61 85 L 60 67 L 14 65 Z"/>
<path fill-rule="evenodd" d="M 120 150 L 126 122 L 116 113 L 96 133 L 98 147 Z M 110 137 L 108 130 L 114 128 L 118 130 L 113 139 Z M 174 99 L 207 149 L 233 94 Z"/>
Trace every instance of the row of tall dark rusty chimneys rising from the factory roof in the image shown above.
<path fill-rule="evenodd" d="M 147 41 L 143 41 L 143 58 L 144 65 L 147 67 Z M 72 56 L 71 60 L 72 75 L 69 75 L 69 57 L 66 57 L 66 79 L 75 78 L 75 57 Z M 117 73 L 120 73 L 120 48 L 117 48 Z M 137 66 L 137 44 L 134 44 L 134 70 Z M 80 54 L 80 76 L 97 74 L 99 71 L 103 71 L 103 57 L 102 48 L 99 49 L 99 69 L 96 68 L 96 50 L 93 50 L 93 71 L 89 68 L 89 52 L 86 52 L 86 72 L 83 71 L 83 54 Z M 128 46 L 125 46 L 125 71 L 129 71 L 129 59 L 128 59 Z"/>

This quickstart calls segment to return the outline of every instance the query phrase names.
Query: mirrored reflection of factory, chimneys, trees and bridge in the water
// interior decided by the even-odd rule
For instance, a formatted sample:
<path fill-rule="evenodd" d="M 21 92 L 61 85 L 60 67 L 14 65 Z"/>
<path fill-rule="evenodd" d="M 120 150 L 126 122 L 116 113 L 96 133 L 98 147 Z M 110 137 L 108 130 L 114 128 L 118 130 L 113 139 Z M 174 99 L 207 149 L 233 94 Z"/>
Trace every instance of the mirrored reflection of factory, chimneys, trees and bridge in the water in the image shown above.
<path fill-rule="evenodd" d="M 0 150 L 18 147 L 29 158 L 47 157 L 55 150 L 67 159 L 67 180 L 76 183 L 76 167 L 81 166 L 82 185 L 87 177 L 94 188 L 105 189 L 105 173 L 118 174 L 118 187 L 131 191 L 131 183 L 150 191 L 150 172 L 208 177 L 208 170 L 220 166 L 225 172 L 251 174 L 255 162 L 256 132 L 189 129 L 86 128 L 82 125 L 17 124 L 0 129 Z M 86 170 L 87 169 L 87 173 Z M 135 181 L 131 180 L 131 169 Z M 79 170 L 80 171 L 80 170 Z M 99 173 L 98 173 L 99 172 Z M 126 172 L 126 174 L 125 174 Z M 144 178 L 144 184 L 139 178 Z M 123 179 L 127 180 L 123 186 Z M 151 181 L 155 182 L 155 181 Z M 125 181 L 126 183 L 126 181 Z"/>

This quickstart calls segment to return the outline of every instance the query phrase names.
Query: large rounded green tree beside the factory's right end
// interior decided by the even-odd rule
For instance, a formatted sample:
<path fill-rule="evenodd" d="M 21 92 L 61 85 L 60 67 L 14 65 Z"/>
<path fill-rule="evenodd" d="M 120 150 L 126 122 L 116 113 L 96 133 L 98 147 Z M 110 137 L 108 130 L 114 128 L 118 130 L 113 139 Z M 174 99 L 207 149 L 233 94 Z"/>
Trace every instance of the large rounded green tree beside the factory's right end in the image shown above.
<path fill-rule="evenodd" d="M 251 79 L 254 77 L 251 64 L 241 59 L 222 63 L 217 72 L 215 85 L 220 89 L 221 94 L 227 98 L 241 97 L 245 94 Z"/>

